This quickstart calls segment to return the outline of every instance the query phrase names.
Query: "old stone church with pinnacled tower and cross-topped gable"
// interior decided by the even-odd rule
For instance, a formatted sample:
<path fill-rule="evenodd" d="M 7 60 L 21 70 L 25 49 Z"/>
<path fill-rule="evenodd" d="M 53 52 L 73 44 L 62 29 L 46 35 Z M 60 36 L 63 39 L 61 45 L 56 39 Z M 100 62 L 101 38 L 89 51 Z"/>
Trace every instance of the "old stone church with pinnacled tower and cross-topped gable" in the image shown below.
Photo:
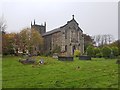
<path fill-rule="evenodd" d="M 49 32 L 46 32 L 46 23 L 37 25 L 34 21 L 33 25 L 31 22 L 31 28 L 37 30 L 44 38 L 45 52 L 50 52 L 59 46 L 61 53 L 66 53 L 68 56 L 73 55 L 76 49 L 84 53 L 83 31 L 74 19 L 74 15 L 67 24 Z"/>

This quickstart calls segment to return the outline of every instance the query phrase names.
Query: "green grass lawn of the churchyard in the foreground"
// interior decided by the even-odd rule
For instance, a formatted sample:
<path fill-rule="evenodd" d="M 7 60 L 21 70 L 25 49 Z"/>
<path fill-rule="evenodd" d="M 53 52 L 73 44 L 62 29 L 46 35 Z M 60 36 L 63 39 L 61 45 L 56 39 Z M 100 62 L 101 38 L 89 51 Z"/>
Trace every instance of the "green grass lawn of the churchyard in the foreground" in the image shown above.
<path fill-rule="evenodd" d="M 46 64 L 32 67 L 18 62 L 18 57 L 2 60 L 3 88 L 117 88 L 118 65 L 115 59 L 58 61 L 44 58 Z M 77 69 L 77 67 L 80 69 Z"/>

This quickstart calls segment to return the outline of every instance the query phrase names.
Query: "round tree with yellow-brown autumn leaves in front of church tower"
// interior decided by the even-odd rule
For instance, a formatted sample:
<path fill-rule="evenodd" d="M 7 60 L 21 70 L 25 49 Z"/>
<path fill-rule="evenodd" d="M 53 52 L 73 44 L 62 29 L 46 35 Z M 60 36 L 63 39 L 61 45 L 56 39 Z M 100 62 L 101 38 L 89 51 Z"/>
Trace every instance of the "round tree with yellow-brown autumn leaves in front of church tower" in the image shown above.
<path fill-rule="evenodd" d="M 41 34 L 30 28 L 23 29 L 15 37 L 16 50 L 22 51 L 23 53 L 38 54 L 42 50 L 43 38 Z"/>

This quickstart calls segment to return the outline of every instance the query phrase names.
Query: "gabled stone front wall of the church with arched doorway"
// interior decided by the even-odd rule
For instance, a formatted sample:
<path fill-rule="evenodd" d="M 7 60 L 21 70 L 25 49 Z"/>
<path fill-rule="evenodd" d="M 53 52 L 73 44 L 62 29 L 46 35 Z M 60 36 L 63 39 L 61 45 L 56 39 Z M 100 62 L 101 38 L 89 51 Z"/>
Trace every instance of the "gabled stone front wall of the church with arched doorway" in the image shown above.
<path fill-rule="evenodd" d="M 79 28 L 78 24 L 73 20 L 63 28 L 63 31 L 66 34 L 62 35 L 62 38 L 65 41 L 62 47 L 67 46 L 67 55 L 73 55 L 73 49 L 78 49 L 81 53 L 84 53 L 84 38 L 82 37 L 83 32 Z M 67 38 L 65 38 L 65 35 L 67 35 Z"/>

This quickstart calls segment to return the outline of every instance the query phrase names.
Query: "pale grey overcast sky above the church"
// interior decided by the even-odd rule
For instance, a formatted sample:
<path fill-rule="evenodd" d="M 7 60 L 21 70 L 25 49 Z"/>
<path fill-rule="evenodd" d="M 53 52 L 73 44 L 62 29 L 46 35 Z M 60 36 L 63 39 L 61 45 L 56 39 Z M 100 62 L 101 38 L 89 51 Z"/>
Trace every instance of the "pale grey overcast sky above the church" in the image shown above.
<path fill-rule="evenodd" d="M 88 2 L 89 1 L 89 2 Z M 104 1 L 104 2 L 103 2 Z M 4 0 L 1 16 L 7 22 L 7 32 L 19 32 L 30 27 L 31 21 L 47 23 L 47 31 L 58 28 L 72 19 L 89 35 L 112 34 L 118 38 L 117 0 Z"/>

